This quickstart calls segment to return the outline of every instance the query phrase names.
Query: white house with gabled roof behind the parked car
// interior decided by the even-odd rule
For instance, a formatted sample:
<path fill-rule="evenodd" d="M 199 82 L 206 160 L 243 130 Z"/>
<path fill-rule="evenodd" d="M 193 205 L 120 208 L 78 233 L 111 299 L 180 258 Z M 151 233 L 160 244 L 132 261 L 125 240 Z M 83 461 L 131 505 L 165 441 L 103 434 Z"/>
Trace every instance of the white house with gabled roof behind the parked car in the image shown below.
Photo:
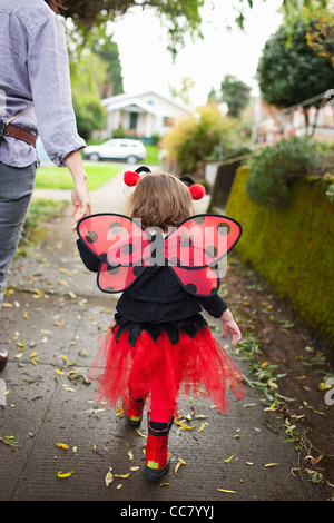
<path fill-rule="evenodd" d="M 102 100 L 102 105 L 107 110 L 106 129 L 101 132 L 104 139 L 120 128 L 140 138 L 156 134 L 164 136 L 178 118 L 191 114 L 183 102 L 155 91 L 117 95 Z"/>

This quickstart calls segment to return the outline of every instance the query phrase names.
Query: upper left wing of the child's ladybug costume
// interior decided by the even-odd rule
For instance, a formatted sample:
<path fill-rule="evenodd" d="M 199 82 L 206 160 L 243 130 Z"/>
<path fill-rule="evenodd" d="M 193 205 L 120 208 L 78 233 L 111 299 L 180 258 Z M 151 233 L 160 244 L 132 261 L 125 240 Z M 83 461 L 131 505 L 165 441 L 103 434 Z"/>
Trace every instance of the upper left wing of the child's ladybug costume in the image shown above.
<path fill-rule="evenodd" d="M 79 221 L 77 233 L 95 256 L 111 266 L 140 264 L 149 257 L 150 235 L 127 216 L 87 216 Z"/>

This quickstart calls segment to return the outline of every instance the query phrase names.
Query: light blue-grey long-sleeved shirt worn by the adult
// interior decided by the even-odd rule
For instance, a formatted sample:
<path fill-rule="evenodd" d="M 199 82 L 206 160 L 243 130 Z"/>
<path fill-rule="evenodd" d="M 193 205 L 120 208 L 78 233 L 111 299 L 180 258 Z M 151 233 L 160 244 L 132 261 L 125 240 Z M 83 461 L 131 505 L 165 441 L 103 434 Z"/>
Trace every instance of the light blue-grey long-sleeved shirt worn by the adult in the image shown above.
<path fill-rule="evenodd" d="M 12 124 L 39 135 L 57 166 L 85 147 L 72 109 L 62 22 L 43 0 L 0 0 L 0 119 L 24 109 Z M 36 149 L 3 137 L 0 161 L 27 167 Z"/>

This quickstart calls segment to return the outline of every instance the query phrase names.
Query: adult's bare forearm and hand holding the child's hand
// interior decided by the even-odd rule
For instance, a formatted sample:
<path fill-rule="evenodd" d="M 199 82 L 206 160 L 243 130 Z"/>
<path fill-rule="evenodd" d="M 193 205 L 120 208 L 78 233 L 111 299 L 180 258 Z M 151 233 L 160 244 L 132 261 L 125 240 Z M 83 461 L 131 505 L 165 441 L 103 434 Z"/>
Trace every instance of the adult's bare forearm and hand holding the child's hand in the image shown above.
<path fill-rule="evenodd" d="M 77 223 L 91 213 L 90 198 L 87 187 L 87 175 L 80 152 L 71 152 L 65 160 L 70 174 L 72 175 L 75 187 L 71 194 L 72 200 L 72 229 Z"/>

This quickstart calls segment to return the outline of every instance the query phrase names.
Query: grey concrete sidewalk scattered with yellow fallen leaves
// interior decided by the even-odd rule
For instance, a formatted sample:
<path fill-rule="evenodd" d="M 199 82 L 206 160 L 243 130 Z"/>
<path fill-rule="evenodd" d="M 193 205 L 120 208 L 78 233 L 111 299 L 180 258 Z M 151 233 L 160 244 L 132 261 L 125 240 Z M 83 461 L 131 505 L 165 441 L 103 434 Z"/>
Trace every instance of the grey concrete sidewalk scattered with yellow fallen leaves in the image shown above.
<path fill-rule="evenodd" d="M 121 211 L 120 176 L 91 199 L 94 213 Z M 61 220 L 48 224 L 39 247 L 10 272 L 1 320 L 10 361 L 0 374 L 0 500 L 118 501 L 125 507 L 139 501 L 149 506 L 321 500 L 292 474 L 293 445 L 268 428 L 262 398 L 247 386 L 243 401 L 229 396 L 225 416 L 209 401 L 181 396 L 187 420 L 171 428 L 170 471 L 160 483 L 144 480 L 146 421 L 139 432 L 129 428 L 121 414 L 94 402 L 95 385 L 86 379 L 115 300 L 97 289 L 75 241 L 68 207 Z M 114 481 L 107 486 L 109 471 Z"/>

